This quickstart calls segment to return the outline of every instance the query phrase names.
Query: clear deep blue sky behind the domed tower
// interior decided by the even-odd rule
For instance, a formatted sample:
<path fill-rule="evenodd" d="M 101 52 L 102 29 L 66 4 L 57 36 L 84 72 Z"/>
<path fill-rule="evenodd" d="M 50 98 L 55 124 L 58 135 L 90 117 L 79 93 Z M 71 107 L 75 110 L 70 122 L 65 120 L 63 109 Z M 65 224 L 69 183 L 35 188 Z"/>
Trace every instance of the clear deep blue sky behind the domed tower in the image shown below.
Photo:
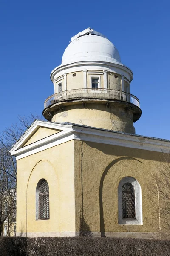
<path fill-rule="evenodd" d="M 51 71 L 87 27 L 107 36 L 133 71 L 136 134 L 170 139 L 169 0 L 0 0 L 0 131 L 18 115 L 42 113 L 54 93 Z"/>

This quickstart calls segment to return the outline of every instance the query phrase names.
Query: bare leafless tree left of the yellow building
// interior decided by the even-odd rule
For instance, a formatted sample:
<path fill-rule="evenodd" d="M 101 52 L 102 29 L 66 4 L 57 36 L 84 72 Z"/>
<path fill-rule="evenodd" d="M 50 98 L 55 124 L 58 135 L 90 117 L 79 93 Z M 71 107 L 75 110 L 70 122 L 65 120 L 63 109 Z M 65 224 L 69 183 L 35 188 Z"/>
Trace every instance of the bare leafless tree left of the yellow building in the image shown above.
<path fill-rule="evenodd" d="M 15 157 L 9 153 L 10 148 L 19 140 L 34 120 L 44 120 L 42 116 L 19 116 L 18 122 L 0 135 L 0 236 L 6 223 L 7 235 L 11 236 L 11 223 L 16 218 L 16 178 Z"/>

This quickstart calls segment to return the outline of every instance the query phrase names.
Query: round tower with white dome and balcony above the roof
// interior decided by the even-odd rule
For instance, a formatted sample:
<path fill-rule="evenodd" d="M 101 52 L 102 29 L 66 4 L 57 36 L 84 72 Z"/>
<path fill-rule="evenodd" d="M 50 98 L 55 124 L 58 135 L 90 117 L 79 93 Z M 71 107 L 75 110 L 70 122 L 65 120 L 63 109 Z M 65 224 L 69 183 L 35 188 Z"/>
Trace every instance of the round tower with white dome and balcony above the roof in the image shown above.
<path fill-rule="evenodd" d="M 71 38 L 62 64 L 51 72 L 54 94 L 45 100 L 43 116 L 134 134 L 133 122 L 142 111 L 139 99 L 130 94 L 132 79 L 111 41 L 85 29 Z"/>

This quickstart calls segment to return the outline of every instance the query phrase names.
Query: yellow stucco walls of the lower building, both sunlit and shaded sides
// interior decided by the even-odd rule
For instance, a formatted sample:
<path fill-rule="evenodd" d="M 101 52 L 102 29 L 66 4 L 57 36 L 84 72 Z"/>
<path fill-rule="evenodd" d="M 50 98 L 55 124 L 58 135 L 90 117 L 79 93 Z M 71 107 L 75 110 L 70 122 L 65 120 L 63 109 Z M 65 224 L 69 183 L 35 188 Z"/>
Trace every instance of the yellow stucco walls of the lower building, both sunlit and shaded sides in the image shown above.
<path fill-rule="evenodd" d="M 159 152 L 78 140 L 17 160 L 17 234 L 75 236 L 82 219 L 94 235 L 159 233 L 159 215 L 147 187 L 159 164 Z M 128 176 L 142 189 L 142 225 L 118 224 L 118 185 Z M 49 220 L 36 220 L 41 179 L 49 185 Z"/>

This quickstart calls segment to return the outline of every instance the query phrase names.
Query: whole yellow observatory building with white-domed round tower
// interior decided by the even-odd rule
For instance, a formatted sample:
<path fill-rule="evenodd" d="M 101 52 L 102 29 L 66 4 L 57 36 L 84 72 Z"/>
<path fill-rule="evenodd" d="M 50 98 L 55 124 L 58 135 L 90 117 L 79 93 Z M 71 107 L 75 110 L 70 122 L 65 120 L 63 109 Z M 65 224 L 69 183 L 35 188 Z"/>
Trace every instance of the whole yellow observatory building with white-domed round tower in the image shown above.
<path fill-rule="evenodd" d="M 88 28 L 71 38 L 51 72 L 47 121 L 35 121 L 11 149 L 18 236 L 160 236 L 148 186 L 170 145 L 135 134 L 142 110 L 132 79 L 104 35 Z"/>

